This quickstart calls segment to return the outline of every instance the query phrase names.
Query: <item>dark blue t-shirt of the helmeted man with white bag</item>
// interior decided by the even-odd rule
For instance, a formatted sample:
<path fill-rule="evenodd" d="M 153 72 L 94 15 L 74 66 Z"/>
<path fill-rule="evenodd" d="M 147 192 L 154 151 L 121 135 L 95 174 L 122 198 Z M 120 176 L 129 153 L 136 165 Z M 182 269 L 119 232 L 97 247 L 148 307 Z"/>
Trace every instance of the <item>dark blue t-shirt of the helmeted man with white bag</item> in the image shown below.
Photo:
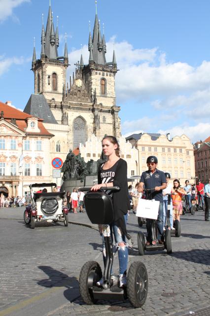
<path fill-rule="evenodd" d="M 163 171 L 160 171 L 158 169 L 155 170 L 155 172 L 150 175 L 150 171 L 144 171 L 142 172 L 142 175 L 140 177 L 140 182 L 144 183 L 145 189 L 151 189 L 155 186 L 161 186 L 163 183 L 166 183 L 166 176 Z M 152 191 L 152 199 L 155 199 L 155 201 L 163 202 L 163 191 Z"/>

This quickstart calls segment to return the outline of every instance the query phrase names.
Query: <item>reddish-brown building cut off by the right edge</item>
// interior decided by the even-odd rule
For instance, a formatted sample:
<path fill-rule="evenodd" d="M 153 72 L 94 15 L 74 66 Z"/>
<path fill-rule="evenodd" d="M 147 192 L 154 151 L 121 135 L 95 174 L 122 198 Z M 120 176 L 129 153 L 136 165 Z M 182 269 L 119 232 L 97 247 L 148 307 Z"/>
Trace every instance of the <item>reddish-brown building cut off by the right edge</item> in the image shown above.
<path fill-rule="evenodd" d="M 194 144 L 195 175 L 206 183 L 210 179 L 210 136 Z"/>

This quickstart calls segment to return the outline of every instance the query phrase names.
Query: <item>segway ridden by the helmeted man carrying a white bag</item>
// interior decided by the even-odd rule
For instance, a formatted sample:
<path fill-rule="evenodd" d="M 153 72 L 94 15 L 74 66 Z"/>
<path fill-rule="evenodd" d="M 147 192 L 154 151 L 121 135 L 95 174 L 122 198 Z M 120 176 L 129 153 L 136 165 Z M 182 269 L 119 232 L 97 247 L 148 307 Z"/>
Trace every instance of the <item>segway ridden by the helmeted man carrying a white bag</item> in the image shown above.
<path fill-rule="evenodd" d="M 147 199 L 151 200 L 151 191 L 153 191 L 154 188 L 151 189 L 144 189 L 144 191 L 147 193 Z M 167 212 L 167 219 L 169 223 L 169 216 L 170 216 L 170 209 Z M 151 233 L 152 233 L 152 243 L 150 245 L 145 244 L 145 238 L 142 231 L 138 233 L 138 250 L 140 256 L 143 256 L 145 251 L 157 251 L 157 250 L 167 250 L 167 254 L 172 253 L 172 241 L 171 241 L 171 230 L 169 230 L 169 226 L 166 226 L 166 230 L 164 232 L 164 235 L 161 239 L 163 239 L 163 244 L 157 243 L 157 220 L 153 219 L 147 219 L 147 221 L 150 221 L 151 223 Z"/>

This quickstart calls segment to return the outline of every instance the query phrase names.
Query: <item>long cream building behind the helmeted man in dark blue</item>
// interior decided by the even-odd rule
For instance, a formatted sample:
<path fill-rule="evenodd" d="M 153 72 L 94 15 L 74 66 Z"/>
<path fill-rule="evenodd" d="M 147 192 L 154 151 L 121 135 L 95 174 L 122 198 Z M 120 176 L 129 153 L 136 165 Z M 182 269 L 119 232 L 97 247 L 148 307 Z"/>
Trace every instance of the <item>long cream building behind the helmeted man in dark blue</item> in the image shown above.
<path fill-rule="evenodd" d="M 161 134 L 133 134 L 126 137 L 138 149 L 138 172 L 147 170 L 146 159 L 154 155 L 158 158 L 158 169 L 169 172 L 172 179 L 179 179 L 183 185 L 185 180 L 195 178 L 195 162 L 193 145 L 186 135 L 175 136 Z"/>

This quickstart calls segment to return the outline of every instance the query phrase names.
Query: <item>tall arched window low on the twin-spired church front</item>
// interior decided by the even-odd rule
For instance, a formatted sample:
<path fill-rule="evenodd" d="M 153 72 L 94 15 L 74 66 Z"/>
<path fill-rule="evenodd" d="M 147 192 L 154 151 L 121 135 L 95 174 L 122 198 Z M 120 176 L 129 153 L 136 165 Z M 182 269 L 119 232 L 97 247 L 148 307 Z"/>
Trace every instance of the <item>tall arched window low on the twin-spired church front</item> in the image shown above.
<path fill-rule="evenodd" d="M 87 140 L 86 122 L 82 117 L 77 117 L 73 122 L 73 148 L 78 148 L 79 143 Z"/>

